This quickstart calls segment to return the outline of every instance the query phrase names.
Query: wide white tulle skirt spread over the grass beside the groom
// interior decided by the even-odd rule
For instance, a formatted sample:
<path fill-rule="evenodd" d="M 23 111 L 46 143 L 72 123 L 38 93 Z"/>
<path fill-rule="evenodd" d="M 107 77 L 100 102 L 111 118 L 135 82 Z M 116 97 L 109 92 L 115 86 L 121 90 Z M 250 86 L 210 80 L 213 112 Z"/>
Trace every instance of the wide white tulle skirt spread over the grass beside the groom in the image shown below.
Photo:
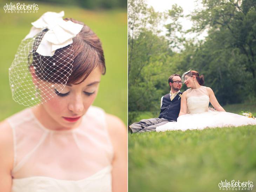
<path fill-rule="evenodd" d="M 168 122 L 156 128 L 160 131 L 194 130 L 216 127 L 256 125 L 256 119 L 229 112 L 208 111 L 200 114 L 186 114 L 177 118 L 177 122 Z"/>

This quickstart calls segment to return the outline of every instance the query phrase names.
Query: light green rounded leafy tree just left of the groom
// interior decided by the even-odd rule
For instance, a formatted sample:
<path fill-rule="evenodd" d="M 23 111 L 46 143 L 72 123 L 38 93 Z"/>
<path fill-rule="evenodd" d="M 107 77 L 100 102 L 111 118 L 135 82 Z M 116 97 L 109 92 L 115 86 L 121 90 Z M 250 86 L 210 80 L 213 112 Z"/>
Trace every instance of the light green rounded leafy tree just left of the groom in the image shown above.
<path fill-rule="evenodd" d="M 143 50 L 143 51 L 141 51 Z M 169 52 L 169 53 L 168 53 Z M 160 102 L 158 95 L 168 84 L 168 68 L 171 67 L 167 41 L 145 30 L 134 40 L 129 53 L 129 110 L 139 107 L 146 110 Z"/>

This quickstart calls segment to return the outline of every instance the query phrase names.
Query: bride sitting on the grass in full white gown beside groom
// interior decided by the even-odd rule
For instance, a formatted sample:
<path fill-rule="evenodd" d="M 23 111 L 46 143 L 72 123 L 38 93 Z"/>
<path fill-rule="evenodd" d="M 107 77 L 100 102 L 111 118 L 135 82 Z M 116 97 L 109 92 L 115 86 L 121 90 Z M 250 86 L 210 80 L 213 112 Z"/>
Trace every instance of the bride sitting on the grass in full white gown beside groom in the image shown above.
<path fill-rule="evenodd" d="M 169 122 L 156 128 L 157 132 L 193 130 L 216 127 L 256 125 L 256 119 L 237 115 L 225 110 L 218 103 L 211 88 L 202 86 L 204 76 L 194 70 L 182 75 L 182 82 L 190 87 L 183 92 L 177 122 Z M 209 102 L 217 111 L 209 110 Z"/>

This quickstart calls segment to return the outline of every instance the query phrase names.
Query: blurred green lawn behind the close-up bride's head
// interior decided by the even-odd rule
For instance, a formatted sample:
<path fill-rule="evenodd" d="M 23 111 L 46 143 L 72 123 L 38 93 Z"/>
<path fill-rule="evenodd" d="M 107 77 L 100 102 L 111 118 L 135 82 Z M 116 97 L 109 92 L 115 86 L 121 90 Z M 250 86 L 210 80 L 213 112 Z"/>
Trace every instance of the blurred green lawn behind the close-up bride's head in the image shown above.
<path fill-rule="evenodd" d="M 16 4 L 16 1 L 12 3 Z M 6 2 L 0 2 L 0 7 L 3 8 L 5 4 Z M 31 1 L 25 4 L 31 4 Z M 28 34 L 31 22 L 47 11 L 64 10 L 64 18 L 74 18 L 84 22 L 102 41 L 107 73 L 102 76 L 94 105 L 120 117 L 124 123 L 127 123 L 127 10 L 89 11 L 75 6 L 40 2 L 36 4 L 39 7 L 38 13 L 18 14 L 4 13 L 4 11 L 0 13 L 0 121 L 25 108 L 12 100 L 8 68 L 19 43 Z"/>

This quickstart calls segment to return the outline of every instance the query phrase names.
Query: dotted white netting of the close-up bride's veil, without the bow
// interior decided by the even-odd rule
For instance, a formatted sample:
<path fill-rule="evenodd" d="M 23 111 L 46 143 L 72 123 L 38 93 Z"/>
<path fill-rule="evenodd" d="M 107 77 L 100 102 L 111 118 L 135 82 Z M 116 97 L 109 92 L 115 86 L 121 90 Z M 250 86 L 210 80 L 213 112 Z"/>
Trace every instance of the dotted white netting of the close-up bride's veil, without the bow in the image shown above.
<path fill-rule="evenodd" d="M 33 107 L 56 96 L 66 86 L 72 73 L 72 44 L 55 50 L 53 56 L 36 52 L 44 29 L 32 38 L 24 39 L 9 68 L 9 83 L 14 101 Z"/>

